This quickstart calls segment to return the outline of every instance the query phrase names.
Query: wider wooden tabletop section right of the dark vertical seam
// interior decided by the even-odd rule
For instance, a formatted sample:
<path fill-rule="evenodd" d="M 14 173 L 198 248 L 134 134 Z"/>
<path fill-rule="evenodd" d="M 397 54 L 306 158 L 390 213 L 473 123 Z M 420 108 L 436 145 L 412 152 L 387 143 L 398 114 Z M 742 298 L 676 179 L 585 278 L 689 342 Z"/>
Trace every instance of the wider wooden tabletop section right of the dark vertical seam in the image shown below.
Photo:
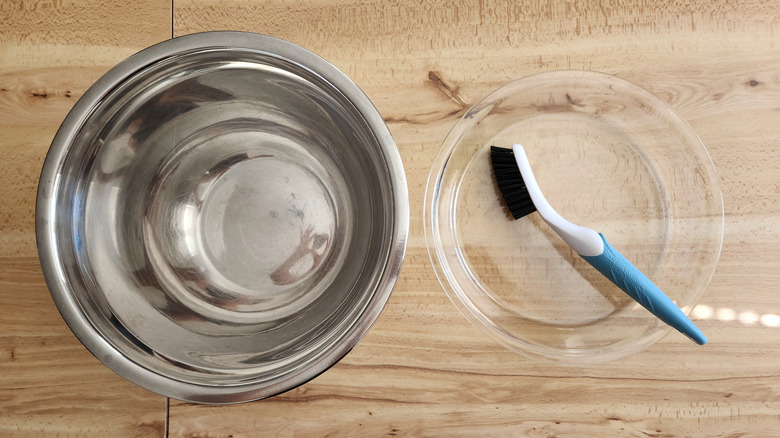
<path fill-rule="evenodd" d="M 780 436 L 780 52 L 776 2 L 179 0 L 174 33 L 270 34 L 347 73 L 387 121 L 410 190 L 401 279 L 366 338 L 312 382 L 256 403 L 172 401 L 171 436 Z M 422 207 L 457 118 L 513 79 L 577 68 L 650 90 L 719 173 L 722 256 L 697 323 L 590 368 L 493 345 L 442 292 Z"/>

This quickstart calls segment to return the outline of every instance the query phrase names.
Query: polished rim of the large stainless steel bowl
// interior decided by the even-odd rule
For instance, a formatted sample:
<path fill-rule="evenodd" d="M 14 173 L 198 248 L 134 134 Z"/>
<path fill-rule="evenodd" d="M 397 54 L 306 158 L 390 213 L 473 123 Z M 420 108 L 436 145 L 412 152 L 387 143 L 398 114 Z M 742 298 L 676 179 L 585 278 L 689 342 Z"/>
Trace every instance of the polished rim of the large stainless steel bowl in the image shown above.
<path fill-rule="evenodd" d="M 92 110 L 114 88 L 138 71 L 182 52 L 215 48 L 252 50 L 281 59 L 316 75 L 341 92 L 365 119 L 381 146 L 393 193 L 392 236 L 388 241 L 385 266 L 361 317 L 333 351 L 282 379 L 270 382 L 201 385 L 158 374 L 130 360 L 104 339 L 82 312 L 67 286 L 68 279 L 58 257 L 55 225 L 59 171 L 68 156 L 71 141 Z M 117 64 L 84 93 L 62 122 L 46 155 L 38 183 L 35 229 L 41 268 L 57 309 L 79 341 L 98 360 L 125 379 L 167 397 L 195 403 L 232 404 L 270 397 L 300 386 L 336 364 L 357 345 L 379 317 L 398 280 L 406 252 L 409 211 L 406 175 L 396 143 L 379 111 L 355 82 L 333 64 L 291 42 L 250 32 L 213 31 L 180 36 L 143 49 Z"/>

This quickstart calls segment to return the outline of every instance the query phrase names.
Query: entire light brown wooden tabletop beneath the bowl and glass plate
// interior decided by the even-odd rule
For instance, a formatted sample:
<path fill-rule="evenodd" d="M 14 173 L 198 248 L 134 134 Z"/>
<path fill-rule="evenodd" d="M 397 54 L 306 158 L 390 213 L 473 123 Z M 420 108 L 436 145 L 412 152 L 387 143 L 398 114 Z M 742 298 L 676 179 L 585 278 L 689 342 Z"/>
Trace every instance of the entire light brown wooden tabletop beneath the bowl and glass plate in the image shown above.
<path fill-rule="evenodd" d="M 8 0 L 0 23 L 0 435 L 780 436 L 780 2 Z M 226 407 L 99 363 L 57 313 L 34 235 L 43 158 L 89 85 L 218 29 L 287 39 L 354 79 L 398 143 L 412 212 L 401 278 L 358 347 L 298 389 Z M 650 90 L 710 151 L 726 228 L 696 321 L 705 347 L 670 335 L 604 366 L 542 364 L 489 342 L 433 274 L 421 211 L 448 130 L 500 85 L 567 68 Z"/>

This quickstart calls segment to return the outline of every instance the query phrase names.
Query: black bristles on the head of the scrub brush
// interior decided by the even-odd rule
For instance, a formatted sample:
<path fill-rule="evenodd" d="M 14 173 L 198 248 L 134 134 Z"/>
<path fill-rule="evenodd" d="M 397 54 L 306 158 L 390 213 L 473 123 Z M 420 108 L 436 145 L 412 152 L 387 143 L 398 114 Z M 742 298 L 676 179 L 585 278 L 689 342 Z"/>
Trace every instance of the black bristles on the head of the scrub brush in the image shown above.
<path fill-rule="evenodd" d="M 490 147 L 490 162 L 493 165 L 493 175 L 498 184 L 498 190 L 504 198 L 512 217 L 520 219 L 536 211 L 528 188 L 523 181 L 523 175 L 517 168 L 515 153 L 512 149 Z"/>

